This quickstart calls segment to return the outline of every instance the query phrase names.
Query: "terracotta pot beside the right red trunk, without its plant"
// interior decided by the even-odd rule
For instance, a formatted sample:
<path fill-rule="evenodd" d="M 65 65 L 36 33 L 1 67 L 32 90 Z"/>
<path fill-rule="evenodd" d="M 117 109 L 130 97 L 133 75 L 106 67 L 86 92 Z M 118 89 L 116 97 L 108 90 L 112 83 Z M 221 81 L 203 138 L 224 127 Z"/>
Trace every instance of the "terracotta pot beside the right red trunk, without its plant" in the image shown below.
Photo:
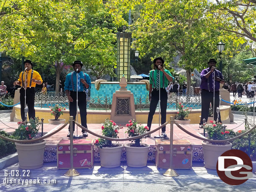
<path fill-rule="evenodd" d="M 149 145 L 146 147 L 130 147 L 129 144 L 125 144 L 127 165 L 129 167 L 144 167 L 146 166 L 149 153 Z"/>

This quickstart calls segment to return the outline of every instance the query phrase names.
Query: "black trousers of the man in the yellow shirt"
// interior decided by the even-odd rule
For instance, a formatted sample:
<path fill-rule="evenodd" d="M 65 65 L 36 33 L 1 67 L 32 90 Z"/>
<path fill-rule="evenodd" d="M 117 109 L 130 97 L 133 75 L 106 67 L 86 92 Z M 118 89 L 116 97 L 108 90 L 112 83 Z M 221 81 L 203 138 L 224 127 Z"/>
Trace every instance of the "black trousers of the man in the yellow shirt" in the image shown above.
<path fill-rule="evenodd" d="M 24 122 L 25 121 L 25 89 L 21 87 L 20 89 L 20 102 L 21 102 L 21 119 Z M 26 105 L 28 106 L 29 109 L 29 119 L 35 118 L 36 117 L 36 112 L 34 109 L 35 105 L 35 88 L 27 88 L 26 89 Z"/>

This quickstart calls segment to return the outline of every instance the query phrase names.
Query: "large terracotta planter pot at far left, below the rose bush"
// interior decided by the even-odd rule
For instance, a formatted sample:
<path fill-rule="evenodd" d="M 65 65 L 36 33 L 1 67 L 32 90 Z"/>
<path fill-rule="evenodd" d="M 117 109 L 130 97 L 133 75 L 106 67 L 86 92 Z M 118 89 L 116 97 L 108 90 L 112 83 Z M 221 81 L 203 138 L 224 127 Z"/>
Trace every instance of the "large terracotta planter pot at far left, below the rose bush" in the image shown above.
<path fill-rule="evenodd" d="M 46 141 L 41 143 L 15 143 L 21 169 L 37 169 L 43 166 Z M 33 157 L 33 158 L 31 158 Z"/>

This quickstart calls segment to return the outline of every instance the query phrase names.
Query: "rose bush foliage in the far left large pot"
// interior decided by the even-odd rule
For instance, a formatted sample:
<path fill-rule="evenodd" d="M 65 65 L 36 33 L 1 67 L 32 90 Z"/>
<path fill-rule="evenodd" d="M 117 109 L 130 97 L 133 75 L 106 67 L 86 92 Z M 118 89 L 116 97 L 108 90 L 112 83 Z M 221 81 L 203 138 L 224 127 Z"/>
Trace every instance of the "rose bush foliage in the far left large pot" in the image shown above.
<path fill-rule="evenodd" d="M 37 135 L 40 124 L 38 117 L 29 119 L 26 125 L 25 122 L 18 122 L 18 128 L 13 132 L 13 136 L 19 137 L 21 140 L 31 140 Z"/>

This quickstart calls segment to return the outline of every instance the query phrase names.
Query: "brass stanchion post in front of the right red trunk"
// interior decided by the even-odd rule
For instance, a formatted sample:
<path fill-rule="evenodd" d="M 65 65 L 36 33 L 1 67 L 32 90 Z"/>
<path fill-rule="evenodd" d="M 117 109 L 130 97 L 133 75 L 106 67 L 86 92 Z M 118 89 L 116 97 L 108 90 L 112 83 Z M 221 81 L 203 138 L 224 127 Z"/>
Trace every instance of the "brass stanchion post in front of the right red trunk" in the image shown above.
<path fill-rule="evenodd" d="M 179 174 L 172 169 L 172 156 L 173 156 L 173 124 L 174 117 L 170 117 L 171 120 L 171 130 L 170 130 L 170 169 L 165 171 L 164 176 L 179 176 Z"/>

